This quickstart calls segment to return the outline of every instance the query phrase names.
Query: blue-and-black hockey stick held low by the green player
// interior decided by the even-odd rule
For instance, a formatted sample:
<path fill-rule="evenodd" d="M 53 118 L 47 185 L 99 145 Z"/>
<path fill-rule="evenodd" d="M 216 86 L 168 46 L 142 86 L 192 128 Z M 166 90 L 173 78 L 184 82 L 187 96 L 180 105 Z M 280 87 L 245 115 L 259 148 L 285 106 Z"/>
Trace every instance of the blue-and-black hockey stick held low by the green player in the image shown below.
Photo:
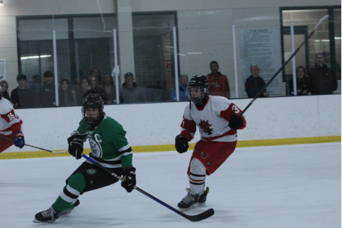
<path fill-rule="evenodd" d="M 112 173 L 111 171 L 109 171 L 108 169 L 106 169 L 105 167 L 101 166 L 101 164 L 98 164 L 97 161 L 91 159 L 89 156 L 86 156 L 84 154 L 82 154 L 82 156 L 87 159 L 88 161 L 91 161 L 91 163 L 95 164 L 96 166 L 98 166 L 99 168 L 103 169 L 104 171 L 106 171 L 107 173 L 109 173 L 110 175 L 114 176 L 115 178 L 118 178 L 120 181 L 124 181 L 124 179 L 121 176 L 116 175 L 115 173 Z M 152 198 L 152 200 L 156 201 L 157 203 L 160 203 L 161 205 L 163 205 L 164 207 L 169 208 L 170 210 L 172 210 L 173 212 L 176 212 L 178 215 L 181 215 L 183 217 L 185 217 L 187 220 L 190 220 L 191 222 L 198 222 L 200 220 L 205 220 L 208 217 L 214 215 L 215 211 L 214 209 L 210 208 L 209 210 L 206 210 L 205 212 L 202 212 L 198 215 L 186 215 L 183 212 L 180 212 L 179 210 L 176 210 L 175 208 L 171 207 L 170 205 L 167 205 L 166 203 L 164 203 L 163 201 L 155 198 L 153 195 L 150 195 L 149 193 L 145 192 L 144 190 L 142 190 L 141 188 L 138 188 L 137 186 L 134 187 L 136 190 L 138 190 L 140 193 L 147 195 L 149 198 Z"/>

